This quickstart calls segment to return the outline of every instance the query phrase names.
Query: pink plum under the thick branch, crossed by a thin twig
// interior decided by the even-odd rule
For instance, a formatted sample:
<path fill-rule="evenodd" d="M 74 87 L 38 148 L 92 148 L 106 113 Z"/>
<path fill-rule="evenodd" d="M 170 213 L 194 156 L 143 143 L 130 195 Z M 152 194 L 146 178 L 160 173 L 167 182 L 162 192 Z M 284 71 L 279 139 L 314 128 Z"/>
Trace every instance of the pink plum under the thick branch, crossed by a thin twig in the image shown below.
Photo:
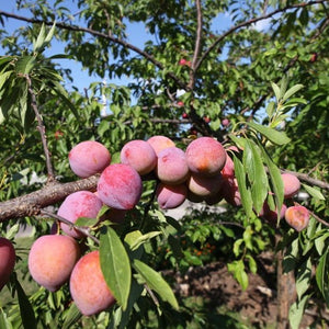
<path fill-rule="evenodd" d="M 75 224 L 79 217 L 97 218 L 102 206 L 102 201 L 94 193 L 78 191 L 65 198 L 58 208 L 57 215 Z M 83 237 L 83 234 L 71 229 L 71 227 L 65 223 L 60 223 L 60 228 L 70 237 Z"/>

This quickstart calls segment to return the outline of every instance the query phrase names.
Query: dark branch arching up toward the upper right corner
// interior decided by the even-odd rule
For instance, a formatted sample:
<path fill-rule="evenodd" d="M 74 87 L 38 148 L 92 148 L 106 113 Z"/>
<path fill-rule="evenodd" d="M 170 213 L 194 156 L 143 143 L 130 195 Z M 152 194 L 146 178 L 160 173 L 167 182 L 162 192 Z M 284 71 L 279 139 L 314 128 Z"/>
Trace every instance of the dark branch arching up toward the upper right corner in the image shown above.
<path fill-rule="evenodd" d="M 291 5 L 286 5 L 282 9 L 276 9 L 265 15 L 261 15 L 261 16 L 258 16 L 258 18 L 253 18 L 249 21 L 246 21 L 246 22 L 242 22 L 240 24 L 237 24 L 232 27 L 230 27 L 228 31 L 226 31 L 225 33 L 223 33 L 206 50 L 205 53 L 202 55 L 202 57 L 198 59 L 196 66 L 195 66 L 195 71 L 200 68 L 200 66 L 202 65 L 202 63 L 205 60 L 205 58 L 208 56 L 208 54 L 211 52 L 213 52 L 216 46 L 222 42 L 224 41 L 228 35 L 232 34 L 234 32 L 236 32 L 237 30 L 240 30 L 241 27 L 246 27 L 246 26 L 249 26 L 251 24 L 254 24 L 259 21 L 263 21 L 263 20 L 266 20 L 266 19 L 270 19 L 272 16 L 274 16 L 275 14 L 277 13 L 281 13 L 281 12 L 285 12 L 290 9 L 294 9 L 294 8 L 304 8 L 304 7 L 308 7 L 308 5 L 314 5 L 314 4 L 319 4 L 319 3 L 325 3 L 327 2 L 328 0 L 315 0 L 315 1 L 308 1 L 308 2 L 302 2 L 302 3 L 296 3 L 296 4 L 291 4 Z M 0 12 L 1 13 L 1 12 Z"/>

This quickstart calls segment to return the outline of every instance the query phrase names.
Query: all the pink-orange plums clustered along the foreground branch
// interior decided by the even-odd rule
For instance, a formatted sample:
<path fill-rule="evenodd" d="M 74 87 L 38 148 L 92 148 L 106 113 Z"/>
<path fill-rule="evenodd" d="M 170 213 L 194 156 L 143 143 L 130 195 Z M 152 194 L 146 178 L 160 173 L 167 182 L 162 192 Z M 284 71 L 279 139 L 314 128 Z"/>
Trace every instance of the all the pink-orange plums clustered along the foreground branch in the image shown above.
<path fill-rule="evenodd" d="M 80 217 L 97 218 L 103 205 L 110 207 L 107 219 L 121 223 L 126 212 L 134 208 L 141 196 L 143 179 L 157 178 L 156 196 L 163 209 L 180 206 L 186 198 L 192 202 L 216 204 L 225 198 L 231 205 L 241 205 L 241 197 L 235 178 L 230 152 L 211 137 L 192 140 L 185 151 L 164 136 L 152 136 L 148 140 L 128 141 L 121 150 L 121 162 L 111 164 L 111 154 L 98 141 L 82 141 L 69 152 L 71 170 L 80 178 L 100 173 L 95 192 L 79 191 L 68 195 L 58 208 L 57 215 L 75 224 Z M 282 174 L 285 198 L 294 196 L 299 180 L 288 173 Z M 263 218 L 276 220 L 276 212 L 264 204 Z M 302 206 L 281 209 L 282 217 L 296 230 L 308 223 L 308 211 Z M 56 292 L 66 282 L 72 299 L 83 315 L 93 315 L 115 304 L 100 266 L 98 250 L 81 251 L 81 230 L 60 222 L 60 229 L 39 237 L 29 254 L 29 270 L 32 277 L 50 292 Z M 0 240 L 0 257 L 3 239 Z M 8 254 L 14 251 L 7 251 Z M 66 254 L 66 258 L 63 258 Z M 0 290 L 5 284 L 14 265 L 3 271 L 0 264 Z M 10 270 L 9 270 L 10 269 Z M 4 274 L 1 274 L 4 273 Z M 1 286 L 2 285 L 2 286 Z"/>

